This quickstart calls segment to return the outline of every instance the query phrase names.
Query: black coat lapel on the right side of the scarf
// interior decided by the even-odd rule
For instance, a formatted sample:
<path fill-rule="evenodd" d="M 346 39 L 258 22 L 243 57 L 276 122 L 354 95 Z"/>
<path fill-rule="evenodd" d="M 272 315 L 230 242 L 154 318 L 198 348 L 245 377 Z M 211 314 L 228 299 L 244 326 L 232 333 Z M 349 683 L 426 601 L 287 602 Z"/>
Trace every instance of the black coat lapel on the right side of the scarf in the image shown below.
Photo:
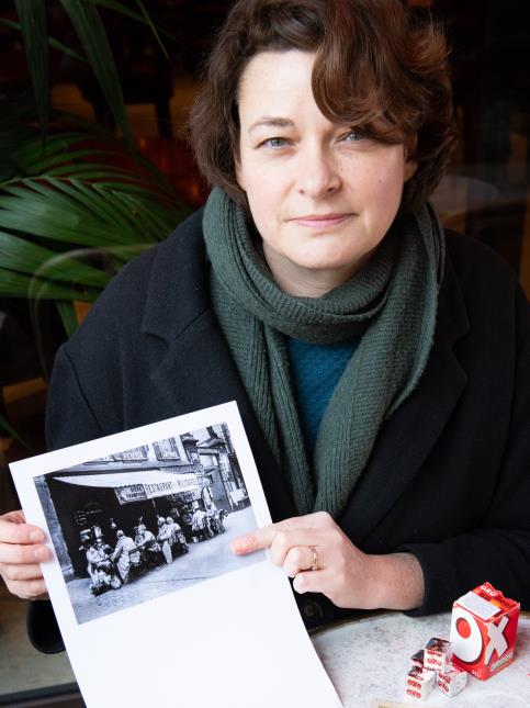
<path fill-rule="evenodd" d="M 437 331 L 421 381 L 383 425 L 340 525 L 357 543 L 370 535 L 418 473 L 465 389 L 453 346 L 469 331 L 462 293 L 448 259 Z"/>

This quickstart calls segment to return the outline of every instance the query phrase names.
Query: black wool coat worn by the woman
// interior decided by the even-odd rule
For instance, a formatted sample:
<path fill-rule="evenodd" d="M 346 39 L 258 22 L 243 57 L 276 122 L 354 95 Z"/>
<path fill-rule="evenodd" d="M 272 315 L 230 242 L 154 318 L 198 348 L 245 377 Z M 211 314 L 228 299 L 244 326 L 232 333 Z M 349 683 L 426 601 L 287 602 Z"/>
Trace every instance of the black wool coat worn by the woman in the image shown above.
<path fill-rule="evenodd" d="M 210 303 L 201 218 L 126 266 L 59 351 L 49 448 L 236 400 L 279 520 L 294 508 Z M 418 558 L 415 614 L 449 610 L 484 581 L 530 608 L 530 307 L 492 251 L 458 234 L 447 243 L 426 371 L 338 521 L 365 552 Z M 308 626 L 342 614 L 320 595 L 297 602 Z"/>

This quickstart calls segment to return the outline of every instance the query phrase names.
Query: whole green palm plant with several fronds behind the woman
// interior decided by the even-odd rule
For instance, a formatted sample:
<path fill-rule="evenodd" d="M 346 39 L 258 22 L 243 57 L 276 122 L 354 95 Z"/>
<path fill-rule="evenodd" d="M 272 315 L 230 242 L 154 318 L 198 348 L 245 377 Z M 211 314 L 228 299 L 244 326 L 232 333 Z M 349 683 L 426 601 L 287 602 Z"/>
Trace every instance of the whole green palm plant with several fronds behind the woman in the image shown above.
<path fill-rule="evenodd" d="M 190 210 L 135 147 L 98 5 L 144 23 L 163 49 L 161 30 L 142 0 L 136 10 L 114 0 L 60 3 L 82 53 L 48 35 L 44 0 L 15 0 L 16 19 L 0 18 L 21 32 L 34 94 L 33 114 L 20 99 L 8 105 L 0 97 L 0 297 L 24 299 L 33 310 L 52 302 L 67 337 L 82 303 Z M 48 46 L 91 68 L 122 138 L 50 108 Z M 16 436 L 1 414 L 0 428 Z"/>

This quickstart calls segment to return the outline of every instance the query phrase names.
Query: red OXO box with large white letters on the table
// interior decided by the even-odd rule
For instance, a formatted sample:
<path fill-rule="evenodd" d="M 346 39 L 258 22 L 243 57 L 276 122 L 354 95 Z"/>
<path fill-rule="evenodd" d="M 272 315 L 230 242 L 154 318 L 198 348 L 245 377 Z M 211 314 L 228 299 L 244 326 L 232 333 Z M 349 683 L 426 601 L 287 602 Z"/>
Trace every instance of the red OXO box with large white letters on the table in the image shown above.
<path fill-rule="evenodd" d="M 519 609 L 489 583 L 462 595 L 451 617 L 452 661 L 481 681 L 511 663 Z"/>

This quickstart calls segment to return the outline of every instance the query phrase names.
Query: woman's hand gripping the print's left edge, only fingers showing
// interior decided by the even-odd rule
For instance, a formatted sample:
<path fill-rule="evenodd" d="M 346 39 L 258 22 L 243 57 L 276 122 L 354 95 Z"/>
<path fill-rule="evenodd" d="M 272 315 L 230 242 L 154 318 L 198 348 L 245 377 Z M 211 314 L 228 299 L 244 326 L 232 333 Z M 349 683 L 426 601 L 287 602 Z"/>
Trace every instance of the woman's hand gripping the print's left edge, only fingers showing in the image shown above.
<path fill-rule="evenodd" d="M 9 592 L 22 599 L 48 597 L 38 565 L 50 558 L 44 540 L 44 532 L 26 524 L 22 510 L 0 516 L 0 575 Z"/>

